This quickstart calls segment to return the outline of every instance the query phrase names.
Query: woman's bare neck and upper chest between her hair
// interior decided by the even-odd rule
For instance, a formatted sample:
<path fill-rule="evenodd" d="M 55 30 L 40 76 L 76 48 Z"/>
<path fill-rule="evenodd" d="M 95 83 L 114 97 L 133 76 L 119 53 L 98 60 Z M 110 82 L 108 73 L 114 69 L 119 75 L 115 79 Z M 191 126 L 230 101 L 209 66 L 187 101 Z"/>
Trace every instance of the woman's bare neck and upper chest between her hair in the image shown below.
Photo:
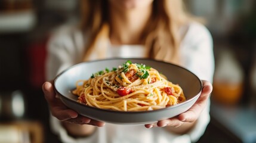
<path fill-rule="evenodd" d="M 152 11 L 149 7 L 132 10 L 114 10 L 110 5 L 110 41 L 113 45 L 141 44 L 141 34 Z"/>

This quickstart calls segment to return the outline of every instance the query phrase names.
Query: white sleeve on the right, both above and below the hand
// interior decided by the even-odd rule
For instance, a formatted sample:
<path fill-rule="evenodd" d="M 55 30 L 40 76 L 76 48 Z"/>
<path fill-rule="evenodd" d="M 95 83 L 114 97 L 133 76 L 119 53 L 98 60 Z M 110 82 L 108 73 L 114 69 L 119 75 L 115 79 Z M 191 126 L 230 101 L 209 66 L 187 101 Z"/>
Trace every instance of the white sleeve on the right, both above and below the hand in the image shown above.
<path fill-rule="evenodd" d="M 212 83 L 214 76 L 214 51 L 212 36 L 205 26 L 199 23 L 192 23 L 187 30 L 183 43 L 181 44 L 181 54 L 184 66 L 195 73 L 201 80 L 208 80 Z M 199 116 L 196 125 L 189 133 L 192 142 L 198 141 L 205 132 L 210 121 L 209 116 L 210 100 L 206 108 Z"/>

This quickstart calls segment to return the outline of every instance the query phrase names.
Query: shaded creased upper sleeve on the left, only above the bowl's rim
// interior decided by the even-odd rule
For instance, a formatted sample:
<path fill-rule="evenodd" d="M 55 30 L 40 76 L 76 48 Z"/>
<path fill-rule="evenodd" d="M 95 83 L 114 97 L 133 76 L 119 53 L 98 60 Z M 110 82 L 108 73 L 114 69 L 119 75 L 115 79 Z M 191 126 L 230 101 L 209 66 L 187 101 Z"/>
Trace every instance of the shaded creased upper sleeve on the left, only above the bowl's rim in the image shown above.
<path fill-rule="evenodd" d="M 53 80 L 67 67 L 82 61 L 84 53 L 82 33 L 62 26 L 55 30 L 47 45 L 46 77 Z"/>

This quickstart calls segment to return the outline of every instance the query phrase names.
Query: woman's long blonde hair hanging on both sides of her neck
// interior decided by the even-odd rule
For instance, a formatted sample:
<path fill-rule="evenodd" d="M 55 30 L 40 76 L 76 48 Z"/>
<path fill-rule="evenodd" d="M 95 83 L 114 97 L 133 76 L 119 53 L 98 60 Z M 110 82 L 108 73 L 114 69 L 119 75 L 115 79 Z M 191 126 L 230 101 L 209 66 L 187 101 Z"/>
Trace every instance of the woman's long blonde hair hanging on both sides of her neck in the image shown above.
<path fill-rule="evenodd" d="M 88 60 L 97 43 L 109 38 L 108 1 L 81 0 L 81 29 L 90 31 L 90 39 L 86 47 L 84 60 Z M 153 13 L 150 22 L 143 30 L 141 41 L 146 47 L 146 57 L 178 64 L 181 35 L 179 29 L 192 20 L 184 11 L 181 0 L 153 1 Z M 98 42 L 101 41 L 101 42 Z M 104 58 L 101 49 L 99 58 Z M 103 53 L 103 54 L 102 54 Z"/>

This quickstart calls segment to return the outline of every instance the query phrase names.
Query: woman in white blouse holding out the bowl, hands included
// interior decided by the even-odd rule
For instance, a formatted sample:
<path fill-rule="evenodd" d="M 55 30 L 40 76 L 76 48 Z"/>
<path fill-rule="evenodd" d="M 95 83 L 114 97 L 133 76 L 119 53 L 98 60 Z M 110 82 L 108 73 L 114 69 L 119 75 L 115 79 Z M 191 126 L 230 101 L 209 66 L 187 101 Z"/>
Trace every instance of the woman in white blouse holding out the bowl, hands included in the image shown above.
<path fill-rule="evenodd" d="M 209 123 L 214 55 L 208 30 L 184 13 L 181 1 L 81 1 L 79 27 L 62 27 L 48 46 L 47 77 L 81 61 L 154 58 L 179 64 L 203 81 L 188 111 L 144 126 L 112 125 L 80 116 L 57 97 L 51 82 L 42 89 L 51 125 L 63 142 L 195 142 Z M 207 82 L 207 81 L 208 82 Z M 147 129 L 150 128 L 150 129 Z"/>

